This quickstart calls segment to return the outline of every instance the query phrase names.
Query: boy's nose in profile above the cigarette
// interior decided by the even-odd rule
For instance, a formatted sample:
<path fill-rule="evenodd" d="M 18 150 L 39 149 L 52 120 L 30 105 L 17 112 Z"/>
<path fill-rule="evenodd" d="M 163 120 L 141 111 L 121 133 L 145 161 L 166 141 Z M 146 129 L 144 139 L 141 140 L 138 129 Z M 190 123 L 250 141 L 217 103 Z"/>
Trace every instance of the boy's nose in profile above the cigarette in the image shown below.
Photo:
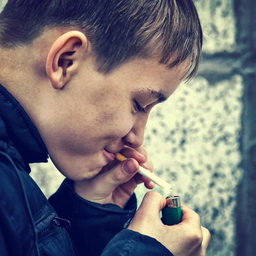
<path fill-rule="evenodd" d="M 128 145 L 131 148 L 139 148 L 143 144 L 146 123 L 147 118 L 137 119 L 128 134 L 123 137 L 125 145 Z"/>

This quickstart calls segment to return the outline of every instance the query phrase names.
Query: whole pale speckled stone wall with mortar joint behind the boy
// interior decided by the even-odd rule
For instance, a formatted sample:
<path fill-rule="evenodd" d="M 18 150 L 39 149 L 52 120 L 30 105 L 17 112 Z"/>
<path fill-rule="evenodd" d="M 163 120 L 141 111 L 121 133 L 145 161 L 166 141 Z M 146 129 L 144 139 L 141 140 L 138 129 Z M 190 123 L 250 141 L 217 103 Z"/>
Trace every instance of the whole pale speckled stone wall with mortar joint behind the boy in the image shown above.
<path fill-rule="evenodd" d="M 5 2 L 0 0 L 0 8 Z M 210 230 L 207 255 L 233 256 L 243 91 L 233 0 L 195 3 L 205 32 L 201 71 L 152 111 L 144 145 L 155 173 L 172 183 L 174 193 Z M 45 195 L 55 192 L 63 176 L 52 163 L 31 167 Z M 139 203 L 146 191 L 143 185 L 137 188 Z"/>

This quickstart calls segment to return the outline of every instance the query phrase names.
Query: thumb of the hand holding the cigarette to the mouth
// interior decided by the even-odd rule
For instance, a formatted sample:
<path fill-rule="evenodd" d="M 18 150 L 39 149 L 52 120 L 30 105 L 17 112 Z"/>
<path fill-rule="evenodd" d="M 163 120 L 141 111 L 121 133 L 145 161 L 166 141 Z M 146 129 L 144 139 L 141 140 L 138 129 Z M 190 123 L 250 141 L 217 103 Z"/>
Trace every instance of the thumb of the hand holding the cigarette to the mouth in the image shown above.
<path fill-rule="evenodd" d="M 139 163 L 134 158 L 128 158 L 118 163 L 111 170 L 96 176 L 95 182 L 102 184 L 102 190 L 108 191 L 127 182 L 139 170 Z"/>

